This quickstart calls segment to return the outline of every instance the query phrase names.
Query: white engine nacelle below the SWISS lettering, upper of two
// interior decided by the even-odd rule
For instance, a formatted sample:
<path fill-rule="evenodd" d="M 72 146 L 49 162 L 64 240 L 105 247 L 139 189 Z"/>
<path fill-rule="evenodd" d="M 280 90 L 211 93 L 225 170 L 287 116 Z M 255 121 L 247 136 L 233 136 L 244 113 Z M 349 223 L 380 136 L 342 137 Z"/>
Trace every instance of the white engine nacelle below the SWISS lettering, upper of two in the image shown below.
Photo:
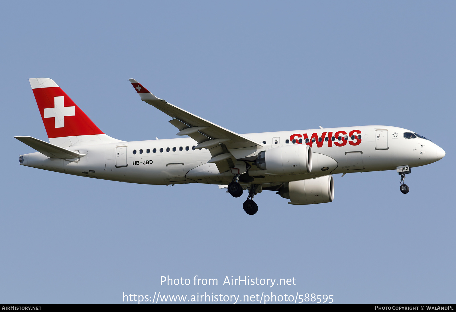
<path fill-rule="evenodd" d="M 312 171 L 311 147 L 304 144 L 272 147 L 258 154 L 255 165 L 279 176 L 308 173 Z"/>

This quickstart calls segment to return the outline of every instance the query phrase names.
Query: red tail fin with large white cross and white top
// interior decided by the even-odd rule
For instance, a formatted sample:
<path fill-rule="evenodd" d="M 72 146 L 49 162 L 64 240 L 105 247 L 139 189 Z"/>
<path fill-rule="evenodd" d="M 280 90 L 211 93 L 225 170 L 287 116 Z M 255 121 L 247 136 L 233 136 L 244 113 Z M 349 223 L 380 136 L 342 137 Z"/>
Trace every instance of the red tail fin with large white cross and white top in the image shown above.
<path fill-rule="evenodd" d="M 48 138 L 104 134 L 52 79 L 29 81 Z"/>

